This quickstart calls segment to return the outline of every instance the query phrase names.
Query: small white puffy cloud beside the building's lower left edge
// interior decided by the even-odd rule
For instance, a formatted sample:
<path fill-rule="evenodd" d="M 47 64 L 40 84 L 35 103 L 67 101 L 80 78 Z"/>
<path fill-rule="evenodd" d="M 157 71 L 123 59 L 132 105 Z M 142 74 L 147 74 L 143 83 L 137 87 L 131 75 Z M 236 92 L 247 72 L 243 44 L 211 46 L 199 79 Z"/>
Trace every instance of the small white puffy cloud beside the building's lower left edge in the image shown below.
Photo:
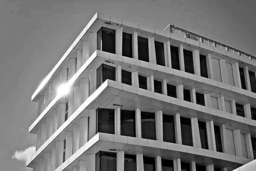
<path fill-rule="evenodd" d="M 35 146 L 26 148 L 25 150 L 15 151 L 12 155 L 12 159 L 26 162 L 35 153 Z"/>

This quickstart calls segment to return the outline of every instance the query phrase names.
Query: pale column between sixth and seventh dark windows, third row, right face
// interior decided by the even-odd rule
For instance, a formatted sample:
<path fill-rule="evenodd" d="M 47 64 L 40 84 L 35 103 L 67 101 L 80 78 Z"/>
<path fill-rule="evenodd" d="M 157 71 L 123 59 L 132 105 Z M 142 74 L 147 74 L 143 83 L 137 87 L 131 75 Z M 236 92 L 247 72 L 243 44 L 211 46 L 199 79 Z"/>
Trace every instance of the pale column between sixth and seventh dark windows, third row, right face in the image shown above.
<path fill-rule="evenodd" d="M 206 122 L 207 141 L 209 150 L 216 151 L 213 121 Z"/>

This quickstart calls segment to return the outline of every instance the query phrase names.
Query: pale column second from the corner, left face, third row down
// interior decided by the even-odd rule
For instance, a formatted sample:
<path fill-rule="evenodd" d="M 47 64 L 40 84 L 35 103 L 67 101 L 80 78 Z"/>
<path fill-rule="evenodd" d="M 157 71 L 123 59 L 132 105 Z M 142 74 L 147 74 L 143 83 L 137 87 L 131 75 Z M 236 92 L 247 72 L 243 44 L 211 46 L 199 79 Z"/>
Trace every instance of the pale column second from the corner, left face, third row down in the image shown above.
<path fill-rule="evenodd" d="M 88 118 L 80 118 L 80 136 L 79 136 L 79 148 L 81 148 L 88 141 Z"/>

